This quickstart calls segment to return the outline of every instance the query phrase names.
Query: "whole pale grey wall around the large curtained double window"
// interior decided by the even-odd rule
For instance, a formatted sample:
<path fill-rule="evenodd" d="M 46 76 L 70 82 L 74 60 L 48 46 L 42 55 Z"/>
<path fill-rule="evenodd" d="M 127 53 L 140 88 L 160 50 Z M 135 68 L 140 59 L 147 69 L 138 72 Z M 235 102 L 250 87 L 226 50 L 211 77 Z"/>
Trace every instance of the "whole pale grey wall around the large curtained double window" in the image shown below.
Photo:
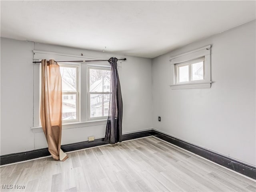
<path fill-rule="evenodd" d="M 33 133 L 33 53 L 32 50 L 54 51 L 84 56 L 126 57 L 122 62 L 123 133 L 152 127 L 151 59 L 86 51 L 1 38 L 1 155 L 47 147 L 44 133 Z M 38 74 L 39 75 L 39 74 Z M 35 85 L 37 86 L 37 85 Z M 62 144 L 102 137 L 106 125 L 64 129 Z"/>

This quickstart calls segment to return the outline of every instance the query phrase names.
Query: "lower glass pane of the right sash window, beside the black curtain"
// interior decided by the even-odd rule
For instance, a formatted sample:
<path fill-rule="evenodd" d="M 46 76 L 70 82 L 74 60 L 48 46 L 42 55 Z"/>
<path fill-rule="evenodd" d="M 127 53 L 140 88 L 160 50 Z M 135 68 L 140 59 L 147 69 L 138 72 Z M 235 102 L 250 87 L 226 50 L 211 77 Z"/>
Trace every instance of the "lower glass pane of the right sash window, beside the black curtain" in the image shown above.
<path fill-rule="evenodd" d="M 110 94 L 90 94 L 90 118 L 108 116 Z"/>

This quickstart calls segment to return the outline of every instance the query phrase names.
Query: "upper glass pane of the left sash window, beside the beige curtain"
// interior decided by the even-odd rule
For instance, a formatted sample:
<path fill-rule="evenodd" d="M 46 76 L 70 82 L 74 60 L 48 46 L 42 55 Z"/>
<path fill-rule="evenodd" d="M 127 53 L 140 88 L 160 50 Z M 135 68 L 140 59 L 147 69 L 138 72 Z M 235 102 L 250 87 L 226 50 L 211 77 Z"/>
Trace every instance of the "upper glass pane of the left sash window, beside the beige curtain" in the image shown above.
<path fill-rule="evenodd" d="M 76 67 L 60 67 L 63 92 L 76 92 Z"/>

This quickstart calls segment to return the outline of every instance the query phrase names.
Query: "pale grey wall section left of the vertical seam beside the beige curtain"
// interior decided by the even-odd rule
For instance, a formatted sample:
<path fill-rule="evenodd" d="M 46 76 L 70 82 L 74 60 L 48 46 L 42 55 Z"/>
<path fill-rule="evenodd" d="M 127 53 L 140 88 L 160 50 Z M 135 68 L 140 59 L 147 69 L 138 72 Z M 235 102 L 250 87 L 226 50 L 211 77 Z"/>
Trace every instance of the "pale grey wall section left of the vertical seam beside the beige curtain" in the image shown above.
<path fill-rule="evenodd" d="M 34 149 L 33 47 L 1 38 L 1 155 Z"/>

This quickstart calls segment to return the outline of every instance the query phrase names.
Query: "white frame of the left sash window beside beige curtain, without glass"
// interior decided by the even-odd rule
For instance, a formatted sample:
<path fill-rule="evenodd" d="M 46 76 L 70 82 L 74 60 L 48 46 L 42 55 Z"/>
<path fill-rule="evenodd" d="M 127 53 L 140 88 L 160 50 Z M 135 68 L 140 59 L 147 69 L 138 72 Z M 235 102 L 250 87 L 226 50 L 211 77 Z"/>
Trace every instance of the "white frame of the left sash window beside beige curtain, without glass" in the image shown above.
<path fill-rule="evenodd" d="M 80 121 L 80 64 L 78 63 L 58 63 L 60 67 L 72 67 L 76 69 L 76 92 L 63 92 L 63 95 L 75 94 L 76 95 L 76 120 L 62 120 L 63 124 L 74 123 Z"/>

